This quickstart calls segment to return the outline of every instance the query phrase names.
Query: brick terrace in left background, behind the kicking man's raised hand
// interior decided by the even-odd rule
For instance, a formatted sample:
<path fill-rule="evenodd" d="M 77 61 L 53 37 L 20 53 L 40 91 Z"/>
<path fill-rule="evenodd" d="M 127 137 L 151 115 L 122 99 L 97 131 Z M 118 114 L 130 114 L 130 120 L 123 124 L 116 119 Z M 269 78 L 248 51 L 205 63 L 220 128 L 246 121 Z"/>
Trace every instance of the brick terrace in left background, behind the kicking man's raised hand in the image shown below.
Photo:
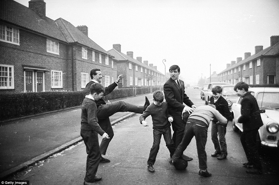
<path fill-rule="evenodd" d="M 126 55 L 121 52 L 120 44 L 113 44 L 113 49 L 109 50 L 108 53 L 118 61 L 117 75 L 124 75 L 122 83 L 118 84 L 120 88 L 164 85 L 165 75 L 157 71 L 157 66 L 148 65 L 147 60 L 142 63 L 142 57 L 137 57 L 137 60 L 135 60 L 133 51 L 127 51 Z"/>

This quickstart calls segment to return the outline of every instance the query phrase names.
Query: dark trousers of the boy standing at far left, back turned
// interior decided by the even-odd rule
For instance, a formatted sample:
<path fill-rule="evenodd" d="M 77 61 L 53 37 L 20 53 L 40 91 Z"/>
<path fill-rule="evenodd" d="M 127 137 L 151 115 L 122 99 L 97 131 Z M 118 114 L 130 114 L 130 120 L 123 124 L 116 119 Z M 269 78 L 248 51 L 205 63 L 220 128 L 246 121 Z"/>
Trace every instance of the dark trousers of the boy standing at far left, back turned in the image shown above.
<path fill-rule="evenodd" d="M 84 181 L 95 182 L 94 178 L 101 159 L 99 139 L 97 132 L 93 130 L 80 130 L 80 135 L 86 146 L 86 174 Z"/>

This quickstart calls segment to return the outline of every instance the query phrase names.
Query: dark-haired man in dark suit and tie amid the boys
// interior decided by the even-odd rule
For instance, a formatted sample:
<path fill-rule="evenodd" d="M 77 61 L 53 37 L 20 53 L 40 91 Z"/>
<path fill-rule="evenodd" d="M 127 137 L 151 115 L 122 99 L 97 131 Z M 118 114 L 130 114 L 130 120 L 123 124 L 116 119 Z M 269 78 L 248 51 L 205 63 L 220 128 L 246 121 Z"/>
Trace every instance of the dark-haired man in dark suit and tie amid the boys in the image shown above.
<path fill-rule="evenodd" d="M 179 80 L 180 68 L 177 65 L 170 66 L 170 79 L 164 84 L 164 94 L 166 102 L 168 103 L 168 110 L 171 116 L 173 116 L 172 121 L 172 140 L 175 143 L 175 148 L 182 141 L 183 133 L 185 129 L 185 124 L 182 120 L 182 112 L 188 111 L 193 112 L 197 108 L 194 103 L 185 94 L 184 82 Z M 186 104 L 183 105 L 183 103 Z M 182 154 L 182 159 L 186 161 L 193 160 L 188 156 Z"/>

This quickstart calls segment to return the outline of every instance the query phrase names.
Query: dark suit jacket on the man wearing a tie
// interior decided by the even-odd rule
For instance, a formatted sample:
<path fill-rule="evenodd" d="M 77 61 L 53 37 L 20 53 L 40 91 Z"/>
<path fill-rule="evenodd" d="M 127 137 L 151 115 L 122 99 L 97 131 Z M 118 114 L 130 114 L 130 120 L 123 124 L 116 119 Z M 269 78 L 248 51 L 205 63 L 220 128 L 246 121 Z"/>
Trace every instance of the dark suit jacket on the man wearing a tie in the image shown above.
<path fill-rule="evenodd" d="M 181 89 L 173 79 L 168 79 L 164 84 L 164 94 L 168 103 L 168 111 L 170 115 L 181 115 L 185 105 L 191 107 L 194 103 L 185 94 L 184 82 L 179 80 Z"/>

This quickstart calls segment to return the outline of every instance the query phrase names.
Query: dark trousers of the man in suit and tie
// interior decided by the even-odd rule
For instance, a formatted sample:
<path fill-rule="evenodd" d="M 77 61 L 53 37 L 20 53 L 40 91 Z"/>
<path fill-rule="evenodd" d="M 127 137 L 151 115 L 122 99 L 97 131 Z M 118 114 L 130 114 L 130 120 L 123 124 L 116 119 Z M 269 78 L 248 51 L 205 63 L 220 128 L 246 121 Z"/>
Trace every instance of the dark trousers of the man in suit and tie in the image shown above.
<path fill-rule="evenodd" d="M 171 123 L 173 134 L 172 140 L 175 143 L 175 148 L 179 145 L 183 138 L 185 123 L 182 120 L 181 115 L 173 115 L 173 121 Z"/>

